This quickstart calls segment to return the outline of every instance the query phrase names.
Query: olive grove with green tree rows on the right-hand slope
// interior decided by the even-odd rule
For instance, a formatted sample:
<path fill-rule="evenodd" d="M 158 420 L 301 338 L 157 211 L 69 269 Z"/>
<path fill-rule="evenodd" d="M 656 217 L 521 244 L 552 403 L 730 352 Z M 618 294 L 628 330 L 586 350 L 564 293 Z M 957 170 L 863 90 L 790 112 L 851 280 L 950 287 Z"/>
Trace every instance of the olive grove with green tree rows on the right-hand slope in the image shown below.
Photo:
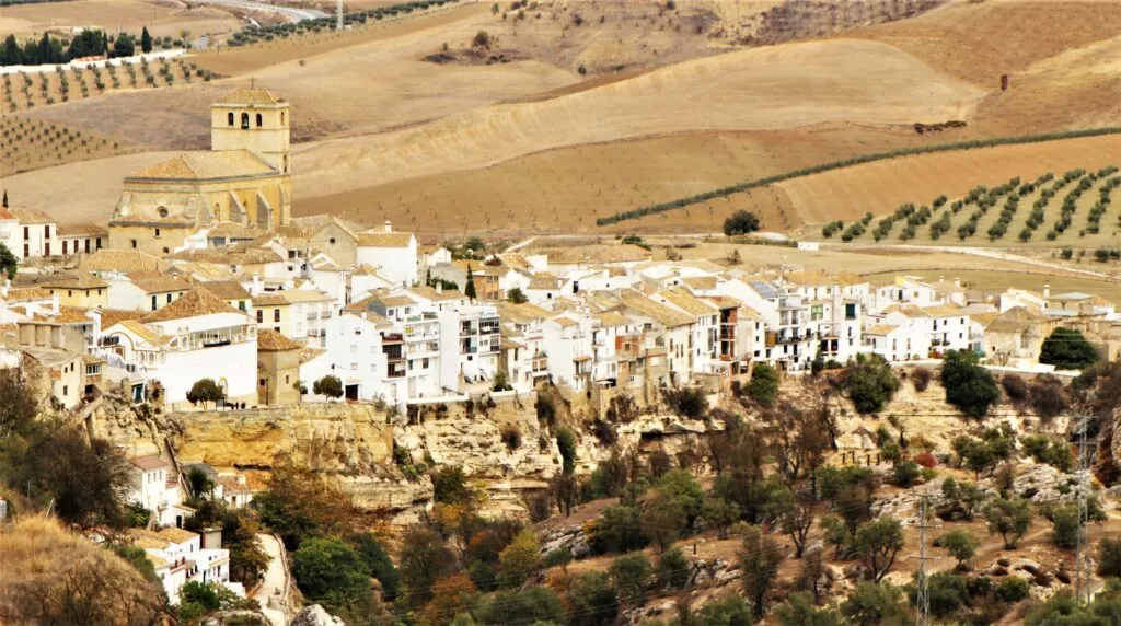
<path fill-rule="evenodd" d="M 906 203 L 887 216 L 821 226 L 825 240 L 854 243 L 1055 246 L 1115 249 L 1121 203 L 1114 191 L 1121 175 L 1114 166 L 1073 169 L 1035 178 L 1012 178 L 979 186 L 958 198 L 945 195 Z"/>

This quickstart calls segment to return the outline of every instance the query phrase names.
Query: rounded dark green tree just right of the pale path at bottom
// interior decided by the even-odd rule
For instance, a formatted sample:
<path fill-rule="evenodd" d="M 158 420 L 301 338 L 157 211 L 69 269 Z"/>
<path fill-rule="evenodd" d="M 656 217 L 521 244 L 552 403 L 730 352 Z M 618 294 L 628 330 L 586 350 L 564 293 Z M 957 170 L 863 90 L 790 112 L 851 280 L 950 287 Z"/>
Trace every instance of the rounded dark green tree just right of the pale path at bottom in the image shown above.
<path fill-rule="evenodd" d="M 304 596 L 328 611 L 353 609 L 370 598 L 370 570 L 354 550 L 333 539 L 311 539 L 291 555 L 291 573 Z"/>

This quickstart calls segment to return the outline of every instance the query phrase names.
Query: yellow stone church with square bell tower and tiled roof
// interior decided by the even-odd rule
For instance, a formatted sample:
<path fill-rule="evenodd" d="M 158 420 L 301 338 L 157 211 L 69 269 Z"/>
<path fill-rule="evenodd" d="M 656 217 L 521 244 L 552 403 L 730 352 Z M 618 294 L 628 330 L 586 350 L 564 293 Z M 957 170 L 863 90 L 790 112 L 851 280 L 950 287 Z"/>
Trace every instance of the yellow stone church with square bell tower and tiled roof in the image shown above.
<path fill-rule="evenodd" d="M 124 178 L 110 247 L 163 255 L 217 222 L 287 225 L 290 124 L 288 103 L 263 88 L 239 88 L 212 104 L 209 152 L 186 152 Z"/>

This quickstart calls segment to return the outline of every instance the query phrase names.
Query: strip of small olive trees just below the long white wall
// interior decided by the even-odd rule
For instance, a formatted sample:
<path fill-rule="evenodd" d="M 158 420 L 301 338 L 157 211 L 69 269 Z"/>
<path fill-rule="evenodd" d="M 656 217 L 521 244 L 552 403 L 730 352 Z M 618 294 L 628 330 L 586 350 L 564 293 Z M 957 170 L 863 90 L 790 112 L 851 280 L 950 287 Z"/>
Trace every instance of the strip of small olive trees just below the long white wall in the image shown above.
<path fill-rule="evenodd" d="M 203 69 L 193 62 L 160 58 L 84 69 L 56 66 L 53 72 L 4 74 L 0 80 L 0 90 L 3 92 L 4 111 L 16 113 L 36 106 L 94 97 L 112 90 L 169 87 L 182 83 L 209 82 L 215 77 L 217 76 L 211 71 Z"/>

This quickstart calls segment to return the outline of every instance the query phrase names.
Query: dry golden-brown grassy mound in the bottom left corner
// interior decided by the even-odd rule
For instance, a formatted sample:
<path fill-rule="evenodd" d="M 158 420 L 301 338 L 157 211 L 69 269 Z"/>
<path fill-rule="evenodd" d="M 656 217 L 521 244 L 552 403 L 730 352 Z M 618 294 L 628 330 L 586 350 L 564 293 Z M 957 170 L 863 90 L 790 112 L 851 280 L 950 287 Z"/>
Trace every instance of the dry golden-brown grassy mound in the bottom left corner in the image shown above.
<path fill-rule="evenodd" d="M 53 520 L 0 533 L 0 623 L 158 624 L 163 598 L 139 570 Z"/>

